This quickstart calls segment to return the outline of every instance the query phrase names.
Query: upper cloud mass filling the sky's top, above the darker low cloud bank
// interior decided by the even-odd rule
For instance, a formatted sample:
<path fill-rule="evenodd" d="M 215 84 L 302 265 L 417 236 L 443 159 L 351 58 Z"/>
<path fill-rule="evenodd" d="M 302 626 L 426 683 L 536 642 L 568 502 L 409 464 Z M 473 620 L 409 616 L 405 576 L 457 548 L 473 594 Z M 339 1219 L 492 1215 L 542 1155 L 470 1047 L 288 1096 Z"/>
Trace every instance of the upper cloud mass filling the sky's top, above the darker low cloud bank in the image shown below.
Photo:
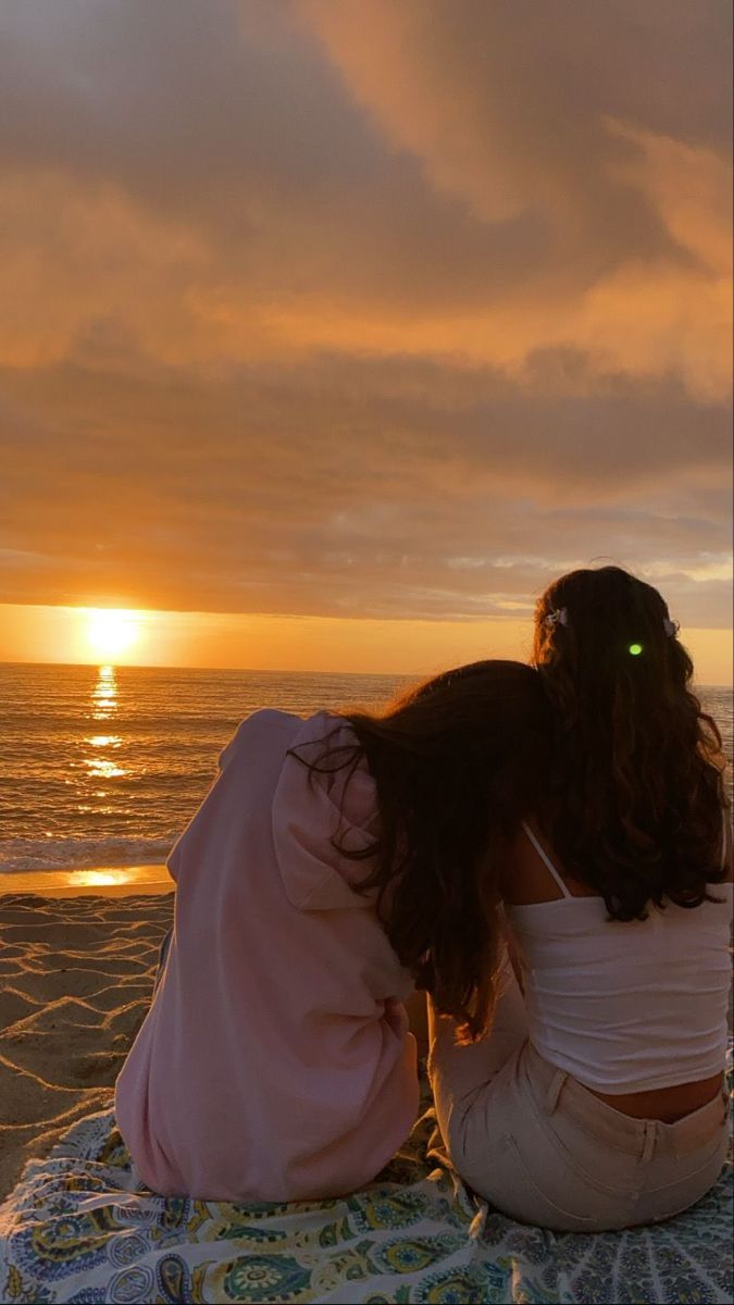
<path fill-rule="evenodd" d="M 7 358 L 68 355 L 103 299 L 162 360 L 567 346 L 727 392 L 717 3 L 210 0 L 202 22 L 27 0 L 0 22 Z"/>

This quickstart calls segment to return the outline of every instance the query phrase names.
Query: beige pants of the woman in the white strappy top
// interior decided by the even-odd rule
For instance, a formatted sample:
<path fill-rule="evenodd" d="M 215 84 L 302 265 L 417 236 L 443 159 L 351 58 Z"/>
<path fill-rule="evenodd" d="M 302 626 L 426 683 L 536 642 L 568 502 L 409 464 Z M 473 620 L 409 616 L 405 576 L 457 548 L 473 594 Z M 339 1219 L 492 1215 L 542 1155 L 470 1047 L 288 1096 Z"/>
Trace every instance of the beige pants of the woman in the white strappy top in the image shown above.
<path fill-rule="evenodd" d="M 622 1114 L 528 1041 L 509 966 L 481 1043 L 457 1047 L 455 1022 L 431 1011 L 428 1073 L 455 1168 L 522 1223 L 605 1232 L 670 1219 L 713 1186 L 726 1159 L 724 1077 L 721 1094 L 677 1124 Z"/>

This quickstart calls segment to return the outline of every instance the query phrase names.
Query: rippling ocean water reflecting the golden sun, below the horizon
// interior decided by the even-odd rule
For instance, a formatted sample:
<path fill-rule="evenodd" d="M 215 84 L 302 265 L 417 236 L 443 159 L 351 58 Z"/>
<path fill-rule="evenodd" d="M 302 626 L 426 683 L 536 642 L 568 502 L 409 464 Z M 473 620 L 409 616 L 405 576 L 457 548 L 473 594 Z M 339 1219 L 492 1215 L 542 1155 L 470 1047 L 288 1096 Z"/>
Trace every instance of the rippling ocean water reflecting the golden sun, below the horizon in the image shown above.
<path fill-rule="evenodd" d="M 376 709 L 414 680 L 0 664 L 0 873 L 161 863 L 243 716 Z M 731 758 L 731 690 L 700 696 Z"/>

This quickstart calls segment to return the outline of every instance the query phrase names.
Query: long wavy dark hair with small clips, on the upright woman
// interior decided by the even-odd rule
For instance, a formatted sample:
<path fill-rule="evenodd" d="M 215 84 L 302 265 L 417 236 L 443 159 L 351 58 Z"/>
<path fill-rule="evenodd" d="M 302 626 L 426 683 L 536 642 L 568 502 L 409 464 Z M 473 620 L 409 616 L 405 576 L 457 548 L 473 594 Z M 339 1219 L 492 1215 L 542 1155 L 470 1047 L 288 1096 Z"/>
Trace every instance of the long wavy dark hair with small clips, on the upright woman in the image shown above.
<path fill-rule="evenodd" d="M 533 662 L 554 718 L 538 818 L 564 869 L 615 920 L 717 900 L 721 736 L 657 590 L 618 566 L 563 576 L 538 600 Z"/>

